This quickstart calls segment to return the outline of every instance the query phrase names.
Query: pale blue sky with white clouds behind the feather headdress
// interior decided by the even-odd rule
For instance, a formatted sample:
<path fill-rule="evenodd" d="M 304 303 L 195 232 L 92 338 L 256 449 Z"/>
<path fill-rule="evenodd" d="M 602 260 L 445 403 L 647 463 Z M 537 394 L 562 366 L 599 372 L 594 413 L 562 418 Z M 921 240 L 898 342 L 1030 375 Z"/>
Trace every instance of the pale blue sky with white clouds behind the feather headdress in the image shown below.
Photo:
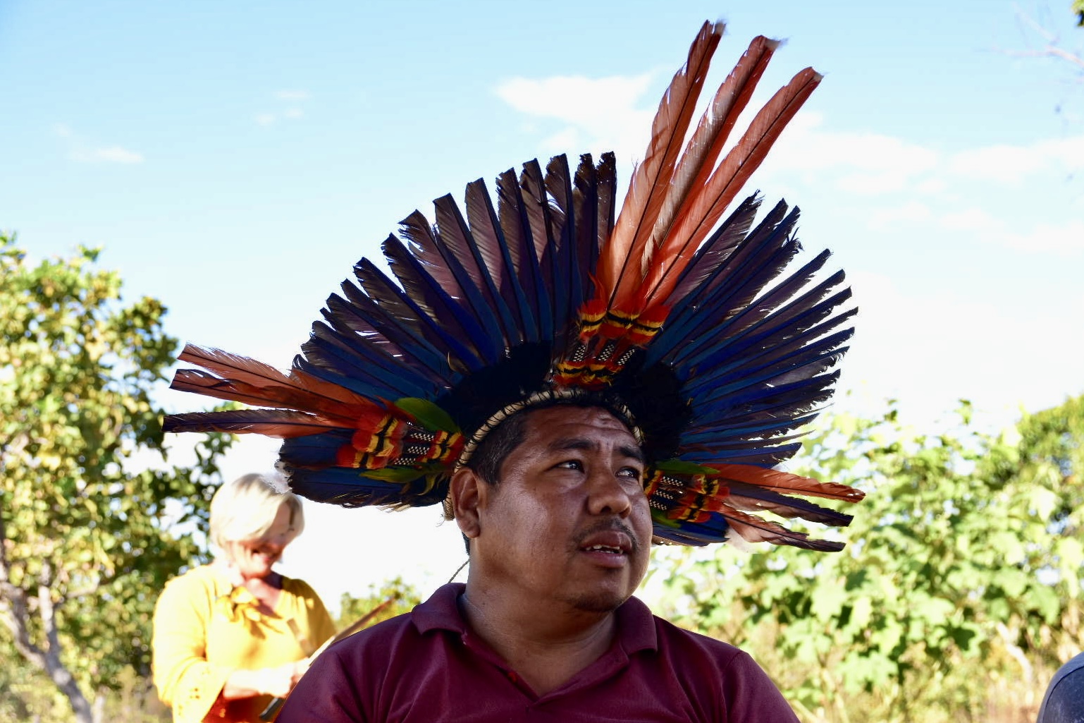
<path fill-rule="evenodd" d="M 825 74 L 754 186 L 801 206 L 806 248 L 853 283 L 839 405 L 898 397 L 926 424 L 968 397 L 1003 424 L 1084 392 L 1084 83 L 1030 54 L 1031 21 L 1080 52 L 1068 5 L 4 0 L 0 227 L 36 256 L 103 245 L 170 333 L 285 367 L 415 207 L 560 152 L 614 149 L 627 178 L 688 42 L 723 17 L 717 80 L 757 34 L 787 40 L 765 94 Z M 273 449 L 247 442 L 227 471 Z M 309 515 L 286 571 L 332 600 L 461 561 L 429 511 Z M 357 569 L 325 563 L 343 548 Z"/>

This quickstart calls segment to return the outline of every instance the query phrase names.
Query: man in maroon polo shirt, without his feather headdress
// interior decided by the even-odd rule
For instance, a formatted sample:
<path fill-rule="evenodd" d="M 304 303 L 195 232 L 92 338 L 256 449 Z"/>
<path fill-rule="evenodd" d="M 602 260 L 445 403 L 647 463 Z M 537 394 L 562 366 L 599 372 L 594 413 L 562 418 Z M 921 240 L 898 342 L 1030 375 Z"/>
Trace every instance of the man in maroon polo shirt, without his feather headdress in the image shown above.
<path fill-rule="evenodd" d="M 631 597 L 651 518 L 611 411 L 521 411 L 476 460 L 452 478 L 466 585 L 332 647 L 280 721 L 798 720 L 748 655 Z"/>

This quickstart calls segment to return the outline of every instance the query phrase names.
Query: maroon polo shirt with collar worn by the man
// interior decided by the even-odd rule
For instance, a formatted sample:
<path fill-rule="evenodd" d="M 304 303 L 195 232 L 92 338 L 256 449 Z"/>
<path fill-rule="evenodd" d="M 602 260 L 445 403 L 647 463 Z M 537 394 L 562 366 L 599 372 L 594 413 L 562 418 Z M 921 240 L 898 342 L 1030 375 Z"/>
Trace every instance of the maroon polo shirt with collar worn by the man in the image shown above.
<path fill-rule="evenodd" d="M 279 723 L 798 721 L 752 658 L 656 618 L 636 598 L 616 611 L 609 650 L 535 695 L 467 627 L 463 589 L 444 585 L 412 612 L 330 647 Z"/>

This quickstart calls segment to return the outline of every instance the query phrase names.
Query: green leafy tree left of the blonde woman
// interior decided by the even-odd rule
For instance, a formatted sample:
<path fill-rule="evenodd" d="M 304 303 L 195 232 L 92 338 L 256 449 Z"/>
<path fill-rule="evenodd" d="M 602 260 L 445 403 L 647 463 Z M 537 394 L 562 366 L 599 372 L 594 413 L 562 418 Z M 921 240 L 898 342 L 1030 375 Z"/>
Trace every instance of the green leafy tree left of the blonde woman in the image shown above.
<path fill-rule="evenodd" d="M 177 340 L 96 257 L 34 266 L 0 234 L 0 657 L 48 676 L 80 723 L 147 674 L 157 594 L 201 555 L 175 525 L 202 527 L 230 444 L 166 465 L 152 392 Z"/>

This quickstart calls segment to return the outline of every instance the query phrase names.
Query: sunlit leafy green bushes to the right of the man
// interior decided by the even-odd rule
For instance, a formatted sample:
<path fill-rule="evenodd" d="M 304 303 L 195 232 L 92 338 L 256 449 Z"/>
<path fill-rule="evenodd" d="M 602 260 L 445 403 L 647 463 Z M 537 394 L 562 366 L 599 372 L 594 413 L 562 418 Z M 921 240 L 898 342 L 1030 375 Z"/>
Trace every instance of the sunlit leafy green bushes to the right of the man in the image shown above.
<path fill-rule="evenodd" d="M 686 553 L 671 612 L 749 649 L 810 722 L 990 720 L 998 687 L 1037 708 L 1022 692 L 1084 646 L 1084 397 L 1002 435 L 969 417 L 836 417 L 796 471 L 868 493 L 848 547 Z"/>

